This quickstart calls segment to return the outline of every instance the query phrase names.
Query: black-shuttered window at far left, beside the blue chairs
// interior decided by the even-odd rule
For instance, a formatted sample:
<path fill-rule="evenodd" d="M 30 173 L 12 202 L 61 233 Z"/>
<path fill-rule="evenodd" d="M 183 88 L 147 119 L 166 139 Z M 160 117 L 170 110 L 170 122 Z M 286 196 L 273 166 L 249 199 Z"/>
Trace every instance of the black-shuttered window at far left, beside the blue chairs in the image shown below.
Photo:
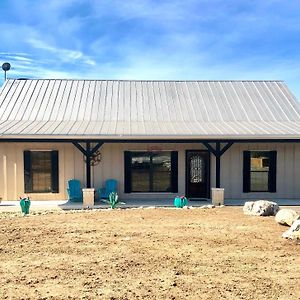
<path fill-rule="evenodd" d="M 58 151 L 24 151 L 25 193 L 58 193 Z"/>

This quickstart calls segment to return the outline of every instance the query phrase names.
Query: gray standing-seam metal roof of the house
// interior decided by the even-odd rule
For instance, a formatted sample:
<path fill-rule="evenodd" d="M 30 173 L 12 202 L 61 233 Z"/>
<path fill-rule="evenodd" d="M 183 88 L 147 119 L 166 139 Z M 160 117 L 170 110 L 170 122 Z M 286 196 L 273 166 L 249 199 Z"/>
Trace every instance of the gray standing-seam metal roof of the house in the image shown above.
<path fill-rule="evenodd" d="M 0 138 L 300 138 L 281 81 L 7 80 Z"/>

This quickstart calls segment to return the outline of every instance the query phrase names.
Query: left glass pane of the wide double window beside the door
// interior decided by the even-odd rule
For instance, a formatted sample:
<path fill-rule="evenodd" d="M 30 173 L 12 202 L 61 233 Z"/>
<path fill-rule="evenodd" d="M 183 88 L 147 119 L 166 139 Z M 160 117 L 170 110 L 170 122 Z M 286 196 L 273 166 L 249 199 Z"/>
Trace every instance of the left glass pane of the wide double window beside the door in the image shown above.
<path fill-rule="evenodd" d="M 132 153 L 131 180 L 133 192 L 150 191 L 150 156 L 148 153 Z"/>

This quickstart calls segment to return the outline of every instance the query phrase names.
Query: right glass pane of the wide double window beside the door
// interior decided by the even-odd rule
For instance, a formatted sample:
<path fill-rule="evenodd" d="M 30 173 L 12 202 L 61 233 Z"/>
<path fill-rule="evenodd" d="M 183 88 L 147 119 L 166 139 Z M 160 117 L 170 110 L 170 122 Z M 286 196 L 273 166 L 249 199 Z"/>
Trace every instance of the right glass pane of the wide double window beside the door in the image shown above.
<path fill-rule="evenodd" d="M 171 152 L 152 155 L 153 192 L 171 192 Z"/>

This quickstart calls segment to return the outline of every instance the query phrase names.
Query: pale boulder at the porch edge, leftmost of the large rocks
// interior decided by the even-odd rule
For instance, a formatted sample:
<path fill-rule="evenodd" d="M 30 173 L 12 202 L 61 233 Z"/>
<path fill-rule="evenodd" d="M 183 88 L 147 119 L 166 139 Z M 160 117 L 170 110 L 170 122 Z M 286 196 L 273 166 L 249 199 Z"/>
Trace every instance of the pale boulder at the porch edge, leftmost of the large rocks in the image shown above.
<path fill-rule="evenodd" d="M 272 201 L 249 201 L 245 203 L 243 211 L 244 214 L 252 216 L 275 216 L 279 211 L 279 206 Z"/>

